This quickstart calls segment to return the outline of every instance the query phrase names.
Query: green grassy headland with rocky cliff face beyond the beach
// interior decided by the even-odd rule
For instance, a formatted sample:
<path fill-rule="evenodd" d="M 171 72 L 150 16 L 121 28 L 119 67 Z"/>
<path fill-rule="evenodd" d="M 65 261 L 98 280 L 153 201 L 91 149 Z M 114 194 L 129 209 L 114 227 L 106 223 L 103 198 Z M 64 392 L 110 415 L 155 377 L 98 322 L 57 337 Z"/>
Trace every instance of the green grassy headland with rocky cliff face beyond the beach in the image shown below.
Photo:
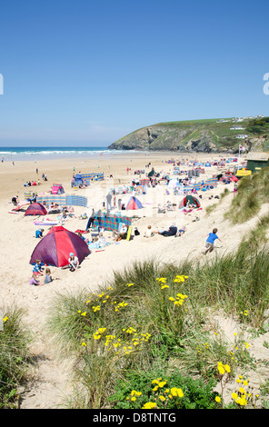
<path fill-rule="evenodd" d="M 247 135 L 243 139 L 238 135 Z M 267 150 L 269 117 L 205 119 L 152 124 L 127 134 L 109 146 L 118 150 L 173 150 L 237 153 L 239 144 L 250 151 Z"/>

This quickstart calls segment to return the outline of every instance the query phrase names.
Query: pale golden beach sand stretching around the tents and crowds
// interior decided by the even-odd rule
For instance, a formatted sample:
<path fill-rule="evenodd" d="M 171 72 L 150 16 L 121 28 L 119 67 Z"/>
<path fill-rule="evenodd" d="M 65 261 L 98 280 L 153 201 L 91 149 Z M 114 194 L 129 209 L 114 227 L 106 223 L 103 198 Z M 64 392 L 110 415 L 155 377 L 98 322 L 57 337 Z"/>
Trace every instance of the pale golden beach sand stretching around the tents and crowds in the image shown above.
<path fill-rule="evenodd" d="M 32 275 L 33 266 L 29 263 L 31 253 L 35 249 L 37 239 L 35 239 L 34 224 L 36 217 L 25 217 L 23 212 L 10 214 L 13 209 L 11 199 L 18 195 L 19 200 L 24 200 L 25 190 L 36 191 L 37 194 L 50 192 L 52 184 L 63 184 L 66 194 L 85 195 L 88 199 L 88 209 L 75 207 L 75 218 L 68 218 L 65 221 L 65 228 L 75 232 L 77 229 L 85 229 L 87 220 L 80 219 L 80 215 L 91 212 L 91 208 L 98 209 L 105 201 L 105 195 L 109 188 L 122 184 L 131 184 L 134 170 L 144 169 L 147 173 L 154 167 L 156 172 L 173 172 L 173 164 L 167 164 L 169 159 L 197 159 L 199 161 L 219 160 L 222 154 L 173 154 L 173 153 L 125 153 L 98 155 L 89 158 L 75 159 L 51 159 L 37 161 L 4 162 L 0 164 L 1 190 L 0 190 L 0 212 L 1 212 L 1 259 L 0 275 L 0 308 L 5 313 L 5 307 L 18 307 L 25 310 L 25 323 L 34 333 L 35 344 L 33 353 L 38 360 L 35 369 L 33 384 L 29 384 L 29 389 L 23 393 L 23 409 L 49 409 L 61 405 L 65 395 L 68 394 L 68 362 L 58 362 L 55 357 L 55 349 L 50 345 L 45 330 L 48 308 L 53 303 L 55 293 L 77 293 L 81 289 L 95 292 L 99 286 L 104 285 L 112 278 L 114 271 L 123 269 L 133 261 L 140 261 L 150 257 L 159 260 L 160 263 L 178 263 L 184 258 L 203 257 L 206 235 L 214 227 L 218 229 L 218 235 L 223 243 L 216 243 L 215 253 L 223 254 L 236 249 L 241 242 L 244 233 L 248 233 L 258 221 L 258 217 L 247 223 L 232 226 L 224 220 L 224 212 L 229 208 L 234 197 L 233 184 L 218 184 L 216 188 L 203 193 L 201 199 L 202 210 L 192 211 L 190 214 L 182 214 L 178 209 L 167 214 L 157 214 L 157 204 L 170 200 L 177 204 L 183 196 L 174 196 L 173 191 L 165 194 L 166 187 L 157 185 L 149 188 L 147 194 L 137 195 L 137 198 L 144 204 L 144 209 L 139 211 L 127 211 L 128 215 L 135 215 L 134 227 L 137 227 L 140 235 L 134 236 L 129 241 L 112 243 L 105 247 L 102 252 L 95 250 L 81 264 L 81 268 L 75 273 L 69 270 L 52 267 L 52 273 L 60 277 L 60 280 L 46 284 L 44 286 L 31 286 L 29 280 Z M 151 163 L 149 168 L 145 164 Z M 126 168 L 131 168 L 127 173 Z M 38 174 L 36 174 L 38 168 Z M 98 173 L 104 172 L 105 181 L 93 183 L 87 189 L 73 190 L 71 179 L 74 173 Z M 181 168 L 187 169 L 186 166 Z M 205 174 L 201 174 L 197 181 L 202 181 L 213 174 L 221 173 L 217 166 L 205 168 Z M 47 174 L 48 181 L 42 180 L 42 174 Z M 110 175 L 113 178 L 109 178 Z M 40 179 L 41 184 L 36 187 L 25 187 L 28 180 Z M 120 180 L 120 181 L 119 181 Z M 228 188 L 230 194 L 223 200 L 215 199 L 215 195 L 220 195 L 224 189 Z M 199 192 L 201 194 L 201 192 Z M 213 198 L 210 196 L 213 195 Z M 123 202 L 129 200 L 130 194 L 121 197 Z M 211 214 L 206 214 L 206 206 L 217 204 Z M 125 214 L 123 212 L 123 214 Z M 263 214 L 263 212 L 261 212 Z M 45 217 L 52 220 L 55 215 L 47 214 Z M 196 221 L 196 218 L 199 218 Z M 181 237 L 163 237 L 155 234 L 153 237 L 145 238 L 144 233 L 148 225 L 152 229 L 158 227 L 165 228 L 171 223 L 186 226 L 186 233 Z M 45 233 L 48 231 L 45 226 Z M 87 235 L 85 234 L 85 237 Z M 105 232 L 107 242 L 112 241 L 111 233 Z M 218 319 L 219 320 L 219 319 Z M 234 324 L 223 323 L 224 333 L 232 339 Z M 269 351 L 264 348 L 262 342 L 253 346 L 256 357 L 260 353 L 263 358 L 269 359 Z M 258 382 L 258 380 L 257 380 Z"/>

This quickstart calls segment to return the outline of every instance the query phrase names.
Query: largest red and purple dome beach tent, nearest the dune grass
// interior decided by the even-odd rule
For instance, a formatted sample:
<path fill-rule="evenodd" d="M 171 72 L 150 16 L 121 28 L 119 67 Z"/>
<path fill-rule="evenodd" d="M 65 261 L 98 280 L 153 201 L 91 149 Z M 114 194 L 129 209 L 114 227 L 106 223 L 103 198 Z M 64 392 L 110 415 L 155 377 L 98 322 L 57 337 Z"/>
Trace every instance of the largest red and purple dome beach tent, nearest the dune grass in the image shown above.
<path fill-rule="evenodd" d="M 81 263 L 90 253 L 88 245 L 77 234 L 66 230 L 62 225 L 52 227 L 43 239 L 36 244 L 30 263 L 41 260 L 47 265 L 64 267 L 68 264 L 69 253 L 74 253 Z"/>

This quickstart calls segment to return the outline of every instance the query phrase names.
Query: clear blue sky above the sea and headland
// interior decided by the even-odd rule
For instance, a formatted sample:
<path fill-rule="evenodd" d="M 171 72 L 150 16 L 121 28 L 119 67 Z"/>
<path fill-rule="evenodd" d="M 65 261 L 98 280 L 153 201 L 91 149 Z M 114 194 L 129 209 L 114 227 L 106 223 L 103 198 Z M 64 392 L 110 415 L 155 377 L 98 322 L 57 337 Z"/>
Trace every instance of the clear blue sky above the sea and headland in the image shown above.
<path fill-rule="evenodd" d="M 3 0 L 0 144 L 106 146 L 159 122 L 269 115 L 268 11 L 268 0 Z"/>

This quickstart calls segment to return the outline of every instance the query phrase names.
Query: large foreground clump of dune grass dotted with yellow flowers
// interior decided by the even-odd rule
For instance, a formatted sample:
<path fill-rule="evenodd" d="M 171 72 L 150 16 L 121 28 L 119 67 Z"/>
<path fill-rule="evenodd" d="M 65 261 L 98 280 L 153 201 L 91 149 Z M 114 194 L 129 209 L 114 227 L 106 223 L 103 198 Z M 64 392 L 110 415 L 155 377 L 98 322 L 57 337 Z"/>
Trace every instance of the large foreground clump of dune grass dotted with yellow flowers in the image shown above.
<path fill-rule="evenodd" d="M 75 355 L 75 399 L 68 404 L 105 408 L 126 407 L 129 402 L 129 407 L 138 408 L 153 399 L 152 389 L 145 392 L 150 384 L 140 390 L 144 400 L 128 393 L 138 391 L 138 377 L 151 372 L 152 381 L 169 378 L 171 390 L 179 385 L 173 378 L 180 374 L 185 399 L 168 399 L 170 407 L 201 407 L 201 396 L 189 398 L 187 384 L 194 379 L 204 387 L 211 383 L 211 392 L 202 387 L 202 401 L 215 407 L 217 363 L 228 363 L 235 372 L 238 364 L 246 369 L 253 361 L 242 337 L 236 342 L 234 362 L 229 344 L 210 323 L 211 313 L 222 310 L 244 325 L 261 328 L 269 303 L 268 260 L 265 248 L 246 254 L 241 247 L 203 263 L 135 262 L 115 272 L 98 292 L 59 294 L 48 328 L 61 351 Z M 118 402 L 119 394 L 125 403 Z"/>

